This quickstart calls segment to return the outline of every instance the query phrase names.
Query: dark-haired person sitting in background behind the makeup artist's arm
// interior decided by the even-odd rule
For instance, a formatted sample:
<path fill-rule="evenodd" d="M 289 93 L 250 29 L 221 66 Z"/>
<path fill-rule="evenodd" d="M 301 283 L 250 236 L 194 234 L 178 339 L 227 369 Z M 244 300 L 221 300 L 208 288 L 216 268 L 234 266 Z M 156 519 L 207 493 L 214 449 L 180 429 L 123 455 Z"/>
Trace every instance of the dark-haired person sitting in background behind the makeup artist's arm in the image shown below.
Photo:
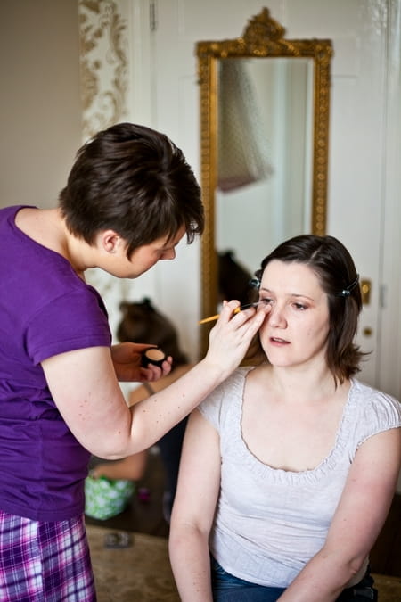
<path fill-rule="evenodd" d="M 173 359 L 171 372 L 153 383 L 143 383 L 130 393 L 129 406 L 138 403 L 155 392 L 160 392 L 174 383 L 177 378 L 184 375 L 193 364 L 188 362 L 186 355 L 180 349 L 176 328 L 168 317 L 161 314 L 153 307 L 149 299 L 139 303 L 122 302 L 120 309 L 123 318 L 119 324 L 117 336 L 119 342 L 148 341 L 157 345 L 166 355 Z M 174 426 L 157 443 L 160 457 L 166 474 L 166 491 L 164 494 L 163 511 L 169 522 L 173 499 L 176 494 L 178 466 L 181 457 L 181 448 L 184 439 L 184 430 L 187 418 Z M 146 469 L 148 450 L 143 450 L 127 458 L 112 462 L 105 462 L 92 458 L 91 478 L 106 477 L 108 479 L 123 479 L 140 481 Z"/>

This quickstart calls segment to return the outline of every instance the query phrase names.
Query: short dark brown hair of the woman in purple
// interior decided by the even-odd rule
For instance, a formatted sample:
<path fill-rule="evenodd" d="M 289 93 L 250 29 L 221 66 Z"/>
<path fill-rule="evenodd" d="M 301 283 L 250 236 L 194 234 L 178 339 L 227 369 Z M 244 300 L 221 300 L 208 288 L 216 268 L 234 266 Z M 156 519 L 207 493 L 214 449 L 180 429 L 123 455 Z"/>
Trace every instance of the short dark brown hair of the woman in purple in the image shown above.
<path fill-rule="evenodd" d="M 92 244 L 111 228 L 127 242 L 128 258 L 183 226 L 188 243 L 204 229 L 201 189 L 182 151 L 132 123 L 111 126 L 79 149 L 59 198 L 71 234 Z"/>

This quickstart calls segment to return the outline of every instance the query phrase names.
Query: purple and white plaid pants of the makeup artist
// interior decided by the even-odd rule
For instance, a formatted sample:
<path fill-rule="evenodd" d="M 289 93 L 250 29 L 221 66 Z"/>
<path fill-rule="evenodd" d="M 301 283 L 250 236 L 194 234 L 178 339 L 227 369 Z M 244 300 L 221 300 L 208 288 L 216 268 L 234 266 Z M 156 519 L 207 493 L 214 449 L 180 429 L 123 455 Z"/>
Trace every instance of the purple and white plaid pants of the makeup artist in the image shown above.
<path fill-rule="evenodd" d="M 2 602 L 95 602 L 84 516 L 46 523 L 0 511 Z"/>

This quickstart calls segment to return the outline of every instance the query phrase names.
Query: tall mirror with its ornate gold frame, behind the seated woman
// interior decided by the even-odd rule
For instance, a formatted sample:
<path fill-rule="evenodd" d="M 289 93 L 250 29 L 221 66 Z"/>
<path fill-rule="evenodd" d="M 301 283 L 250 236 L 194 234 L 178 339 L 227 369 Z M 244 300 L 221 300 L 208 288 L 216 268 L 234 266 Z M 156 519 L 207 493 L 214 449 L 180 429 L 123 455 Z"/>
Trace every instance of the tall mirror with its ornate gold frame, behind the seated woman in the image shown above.
<path fill-rule="evenodd" d="M 233 298 L 225 296 L 222 261 L 253 275 L 282 240 L 325 233 L 331 41 L 284 33 L 264 8 L 241 37 L 196 45 L 202 317 Z M 201 326 L 202 355 L 211 326 Z"/>

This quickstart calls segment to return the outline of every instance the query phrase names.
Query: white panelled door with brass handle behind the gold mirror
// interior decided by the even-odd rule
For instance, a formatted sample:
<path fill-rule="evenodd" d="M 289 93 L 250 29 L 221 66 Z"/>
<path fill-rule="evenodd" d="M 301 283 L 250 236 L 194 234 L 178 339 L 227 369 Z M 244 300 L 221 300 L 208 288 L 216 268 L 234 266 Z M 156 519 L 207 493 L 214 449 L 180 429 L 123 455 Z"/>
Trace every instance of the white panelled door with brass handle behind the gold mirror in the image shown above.
<path fill-rule="evenodd" d="M 152 123 L 184 150 L 199 176 L 199 91 L 195 44 L 199 40 L 241 36 L 248 19 L 260 12 L 260 0 L 143 0 L 146 10 L 148 4 L 153 29 L 149 43 L 153 70 Z M 389 131 L 386 129 L 389 125 L 386 121 L 389 115 L 389 81 L 386 78 L 388 4 L 393 7 L 397 4 L 399 8 L 398 0 L 397 3 L 382 3 L 381 0 L 369 3 L 364 0 L 336 0 L 335 3 L 332 0 L 270 0 L 268 8 L 271 16 L 286 28 L 285 37 L 327 37 L 332 40 L 327 233 L 346 244 L 356 260 L 361 279 L 371 285 L 370 301 L 364 306 L 360 321 L 358 342 L 363 350 L 372 353 L 364 362 L 361 378 L 399 396 L 401 370 L 397 359 L 400 358 L 400 329 L 391 333 L 389 328 L 389 323 L 396 327 L 399 324 L 399 280 L 395 287 L 386 282 L 386 272 L 391 272 L 393 278 L 394 271 L 399 272 L 398 265 L 394 268 L 391 264 L 394 253 L 398 253 L 399 257 L 399 243 L 394 235 L 395 218 L 393 213 L 389 215 L 389 211 L 394 212 L 399 203 L 393 202 L 389 206 L 385 202 L 385 183 L 389 177 L 385 152 L 389 143 Z M 399 17 L 399 11 L 397 15 Z M 393 107 L 393 113 L 395 111 Z M 391 136 L 395 146 L 396 135 L 393 133 Z M 393 235 L 389 236 L 389 233 Z M 398 244 L 397 249 L 394 244 Z M 178 258 L 173 262 L 176 265 L 168 271 L 165 267 L 160 270 L 160 294 L 164 306 L 171 308 L 176 307 L 177 302 L 178 306 L 182 303 L 174 298 L 171 287 L 172 275 L 175 275 L 173 280 L 176 281 L 177 277 L 179 281 L 178 273 L 181 272 L 183 280 L 179 287 L 185 290 L 185 304 L 181 305 L 181 309 L 193 325 L 199 312 L 200 295 L 199 258 L 195 252 L 199 253 L 196 246 L 192 250 L 191 269 L 193 272 L 195 265 L 198 273 L 191 274 L 192 278 L 195 276 L 191 290 L 185 290 L 184 283 L 188 278 L 185 259 Z M 388 262 L 383 263 L 386 258 Z M 184 332 L 185 327 L 182 324 L 179 327 Z M 390 334 L 395 353 L 393 357 L 388 352 Z M 184 336 L 192 341 L 196 333 L 193 329 Z"/>

